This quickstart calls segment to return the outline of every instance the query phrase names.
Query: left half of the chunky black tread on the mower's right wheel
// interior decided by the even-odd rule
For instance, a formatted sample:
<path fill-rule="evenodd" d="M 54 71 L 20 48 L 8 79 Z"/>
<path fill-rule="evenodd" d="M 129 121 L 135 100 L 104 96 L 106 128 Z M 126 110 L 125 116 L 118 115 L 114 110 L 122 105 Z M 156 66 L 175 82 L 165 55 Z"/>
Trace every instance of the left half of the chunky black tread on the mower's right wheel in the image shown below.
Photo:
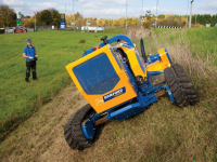
<path fill-rule="evenodd" d="M 166 68 L 164 70 L 164 75 L 165 75 L 167 85 L 170 89 L 170 92 L 171 92 L 171 94 L 175 98 L 176 104 L 180 107 L 187 106 L 186 97 L 184 97 L 184 95 L 181 91 L 181 87 L 179 85 L 179 81 L 178 81 L 176 73 L 173 70 L 173 68 L 169 68 L 169 67 Z"/>

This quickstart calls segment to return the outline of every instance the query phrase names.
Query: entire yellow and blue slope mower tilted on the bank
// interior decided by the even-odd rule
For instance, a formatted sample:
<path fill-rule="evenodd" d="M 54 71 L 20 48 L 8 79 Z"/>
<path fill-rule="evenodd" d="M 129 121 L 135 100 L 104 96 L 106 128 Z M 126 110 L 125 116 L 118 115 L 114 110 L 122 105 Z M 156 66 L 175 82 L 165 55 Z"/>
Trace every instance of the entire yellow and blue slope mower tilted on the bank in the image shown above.
<path fill-rule="evenodd" d="M 168 94 L 180 107 L 199 102 L 187 72 L 179 64 L 171 64 L 168 52 L 145 55 L 124 35 L 85 51 L 81 58 L 66 66 L 75 85 L 89 103 L 76 111 L 65 124 L 68 146 L 82 150 L 90 147 L 111 120 L 124 120 L 145 110 L 158 97 Z M 115 45 L 111 45 L 111 43 Z"/>

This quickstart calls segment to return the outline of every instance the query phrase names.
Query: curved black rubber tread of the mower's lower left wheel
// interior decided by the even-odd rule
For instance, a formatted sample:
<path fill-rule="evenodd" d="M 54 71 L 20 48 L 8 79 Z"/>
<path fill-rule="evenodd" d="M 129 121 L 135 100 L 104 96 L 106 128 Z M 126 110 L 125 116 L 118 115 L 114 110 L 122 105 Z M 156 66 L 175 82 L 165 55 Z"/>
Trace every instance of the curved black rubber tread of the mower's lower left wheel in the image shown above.
<path fill-rule="evenodd" d="M 72 149 L 84 150 L 93 144 L 93 140 L 89 140 L 85 137 L 81 124 L 85 117 L 92 110 L 92 107 L 87 104 L 77 112 L 75 112 L 64 127 L 64 136 Z"/>

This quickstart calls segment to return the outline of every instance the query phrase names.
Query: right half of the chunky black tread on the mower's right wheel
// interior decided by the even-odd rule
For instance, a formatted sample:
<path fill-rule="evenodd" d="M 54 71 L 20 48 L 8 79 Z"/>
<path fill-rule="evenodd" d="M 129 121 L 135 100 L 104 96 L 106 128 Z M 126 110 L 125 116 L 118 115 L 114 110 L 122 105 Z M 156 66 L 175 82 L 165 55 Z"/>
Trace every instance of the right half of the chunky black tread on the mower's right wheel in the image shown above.
<path fill-rule="evenodd" d="M 183 67 L 179 64 L 174 64 L 171 68 L 174 69 L 176 77 L 179 81 L 181 92 L 186 97 L 187 105 L 194 105 L 199 103 L 199 95 Z"/>

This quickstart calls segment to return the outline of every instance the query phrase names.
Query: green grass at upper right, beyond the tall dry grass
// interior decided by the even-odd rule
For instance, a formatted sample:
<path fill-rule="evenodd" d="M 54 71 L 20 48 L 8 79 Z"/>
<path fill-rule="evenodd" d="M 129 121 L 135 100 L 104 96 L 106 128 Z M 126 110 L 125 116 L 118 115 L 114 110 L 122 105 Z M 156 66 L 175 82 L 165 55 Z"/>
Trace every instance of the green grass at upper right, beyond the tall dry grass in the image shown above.
<path fill-rule="evenodd" d="M 217 65 L 217 27 L 192 28 L 192 29 L 153 29 L 157 36 L 157 41 L 166 46 L 165 43 L 174 44 L 179 40 L 180 45 L 188 44 L 193 56 L 199 56 L 203 60 L 209 59 L 213 65 Z M 145 44 L 152 46 L 152 38 L 145 39 Z M 156 41 L 154 42 L 154 44 Z M 156 46 L 153 46 L 156 48 Z"/>

